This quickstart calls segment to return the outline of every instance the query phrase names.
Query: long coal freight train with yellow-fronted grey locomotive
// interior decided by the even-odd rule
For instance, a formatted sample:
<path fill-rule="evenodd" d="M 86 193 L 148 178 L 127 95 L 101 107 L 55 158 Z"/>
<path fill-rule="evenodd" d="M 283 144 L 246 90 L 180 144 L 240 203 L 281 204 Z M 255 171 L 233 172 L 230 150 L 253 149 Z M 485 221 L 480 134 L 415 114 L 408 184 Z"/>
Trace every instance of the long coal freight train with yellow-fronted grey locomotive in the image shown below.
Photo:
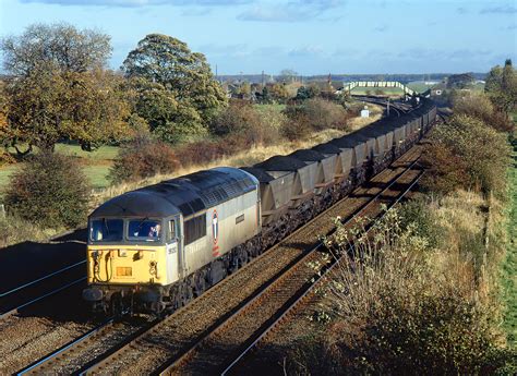
<path fill-rule="evenodd" d="M 422 99 L 312 149 L 219 167 L 109 199 L 88 217 L 83 299 L 97 312 L 173 311 L 386 168 L 432 126 Z"/>

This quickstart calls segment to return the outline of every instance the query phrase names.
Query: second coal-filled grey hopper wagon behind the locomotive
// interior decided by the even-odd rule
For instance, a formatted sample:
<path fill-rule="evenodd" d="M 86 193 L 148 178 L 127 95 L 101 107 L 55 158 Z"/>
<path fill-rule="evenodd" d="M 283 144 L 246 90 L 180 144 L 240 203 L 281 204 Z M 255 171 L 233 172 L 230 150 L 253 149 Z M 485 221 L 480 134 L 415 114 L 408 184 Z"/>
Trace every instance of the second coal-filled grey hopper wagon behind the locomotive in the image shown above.
<path fill-rule="evenodd" d="M 264 169 L 275 179 L 285 177 L 287 172 L 294 173 L 291 184 L 291 207 L 297 207 L 301 199 L 314 194 L 317 162 L 306 165 L 297 158 L 274 156 L 254 167 Z"/>

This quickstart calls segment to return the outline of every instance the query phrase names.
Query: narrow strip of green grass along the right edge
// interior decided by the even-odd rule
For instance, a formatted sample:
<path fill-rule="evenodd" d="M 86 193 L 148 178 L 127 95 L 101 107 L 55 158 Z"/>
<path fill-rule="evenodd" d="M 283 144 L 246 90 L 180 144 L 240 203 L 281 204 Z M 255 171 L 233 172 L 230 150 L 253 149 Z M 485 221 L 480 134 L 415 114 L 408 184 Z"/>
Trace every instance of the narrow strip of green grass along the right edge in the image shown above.
<path fill-rule="evenodd" d="M 504 328 L 507 332 L 508 342 L 517 349 L 517 138 L 513 142 L 513 166 L 509 171 L 509 183 L 512 187 L 512 208 L 509 215 L 509 243 L 506 259 L 503 263 L 502 284 L 506 312 L 504 315 Z"/>

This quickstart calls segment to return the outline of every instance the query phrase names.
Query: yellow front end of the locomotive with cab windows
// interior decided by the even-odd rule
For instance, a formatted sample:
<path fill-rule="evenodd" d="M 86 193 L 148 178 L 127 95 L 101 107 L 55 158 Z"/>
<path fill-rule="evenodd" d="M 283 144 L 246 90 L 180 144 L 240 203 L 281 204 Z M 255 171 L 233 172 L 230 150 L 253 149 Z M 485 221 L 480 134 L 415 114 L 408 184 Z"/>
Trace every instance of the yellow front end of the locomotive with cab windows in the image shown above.
<path fill-rule="evenodd" d="M 176 218 L 95 218 L 88 226 L 88 288 L 94 311 L 124 307 L 160 312 L 163 296 L 178 276 Z M 176 268 L 175 268 L 176 267 Z"/>

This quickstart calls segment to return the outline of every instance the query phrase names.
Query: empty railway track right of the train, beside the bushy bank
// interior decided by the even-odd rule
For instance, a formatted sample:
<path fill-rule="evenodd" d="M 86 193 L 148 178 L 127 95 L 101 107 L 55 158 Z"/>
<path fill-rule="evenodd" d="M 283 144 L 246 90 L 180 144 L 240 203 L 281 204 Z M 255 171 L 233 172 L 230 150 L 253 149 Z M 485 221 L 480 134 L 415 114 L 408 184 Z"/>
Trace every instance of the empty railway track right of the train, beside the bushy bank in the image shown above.
<path fill-rule="evenodd" d="M 409 186 L 412 186 L 421 177 L 421 170 L 414 169 L 416 163 L 417 161 L 411 163 L 402 174 L 378 192 L 356 216 L 366 215 L 374 218 L 373 222 L 384 214 L 381 204 L 395 205 L 404 192 L 409 190 L 400 193 L 400 189 L 395 187 L 396 184 L 404 182 L 402 186 L 406 186 L 405 180 L 408 180 Z M 348 219 L 345 227 L 353 226 L 356 216 Z M 322 248 L 322 243 L 313 246 L 303 258 L 269 283 L 258 295 L 158 372 L 163 375 L 175 375 L 227 374 L 235 371 L 264 336 L 314 291 L 321 280 L 320 276 L 326 276 L 333 268 L 334 265 L 326 268 L 327 258 Z M 315 268 L 315 265 L 318 267 Z"/>

